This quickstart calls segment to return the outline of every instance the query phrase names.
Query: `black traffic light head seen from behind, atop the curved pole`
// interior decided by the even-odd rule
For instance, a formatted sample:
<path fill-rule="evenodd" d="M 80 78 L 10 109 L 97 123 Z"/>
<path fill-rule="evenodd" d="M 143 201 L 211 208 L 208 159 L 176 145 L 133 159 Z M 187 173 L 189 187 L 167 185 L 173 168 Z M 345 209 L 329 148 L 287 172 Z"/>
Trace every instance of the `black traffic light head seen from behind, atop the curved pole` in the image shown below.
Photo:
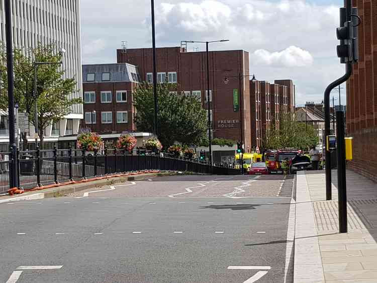
<path fill-rule="evenodd" d="M 336 37 L 340 40 L 336 53 L 340 63 L 354 63 L 358 60 L 358 22 L 357 8 L 352 8 L 351 21 L 346 21 L 346 9 L 340 8 L 340 27 L 336 29 Z"/>

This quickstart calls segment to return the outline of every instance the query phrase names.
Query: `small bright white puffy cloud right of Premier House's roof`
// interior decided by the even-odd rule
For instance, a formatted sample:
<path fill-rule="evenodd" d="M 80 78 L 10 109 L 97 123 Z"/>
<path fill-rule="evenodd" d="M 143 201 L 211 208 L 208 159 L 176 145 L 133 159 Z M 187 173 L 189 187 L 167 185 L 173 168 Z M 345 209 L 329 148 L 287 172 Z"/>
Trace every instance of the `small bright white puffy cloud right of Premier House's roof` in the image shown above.
<path fill-rule="evenodd" d="M 258 49 L 252 54 L 251 60 L 255 65 L 303 67 L 313 63 L 313 56 L 306 50 L 290 46 L 280 52 L 269 52 L 264 49 Z"/>

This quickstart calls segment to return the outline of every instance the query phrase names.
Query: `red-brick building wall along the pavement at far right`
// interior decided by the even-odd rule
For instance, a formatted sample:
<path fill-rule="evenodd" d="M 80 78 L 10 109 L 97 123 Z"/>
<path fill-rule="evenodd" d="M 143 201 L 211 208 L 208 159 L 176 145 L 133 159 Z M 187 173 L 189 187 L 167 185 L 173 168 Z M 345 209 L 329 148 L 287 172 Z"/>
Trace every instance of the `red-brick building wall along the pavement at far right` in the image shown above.
<path fill-rule="evenodd" d="M 377 181 L 377 2 L 353 1 L 358 7 L 359 61 L 347 81 L 347 134 L 353 137 L 351 169 Z"/>

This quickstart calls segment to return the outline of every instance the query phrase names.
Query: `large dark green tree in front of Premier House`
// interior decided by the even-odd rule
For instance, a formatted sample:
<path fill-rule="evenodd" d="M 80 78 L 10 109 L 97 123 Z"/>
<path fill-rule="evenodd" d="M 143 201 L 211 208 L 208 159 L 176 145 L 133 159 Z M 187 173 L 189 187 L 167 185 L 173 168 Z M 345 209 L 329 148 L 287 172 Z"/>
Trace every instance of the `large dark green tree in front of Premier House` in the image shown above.
<path fill-rule="evenodd" d="M 178 90 L 172 93 L 170 90 Z M 157 85 L 158 139 L 166 149 L 174 142 L 198 145 L 207 133 L 207 116 L 196 97 L 179 94 L 176 84 Z M 154 97 L 151 84 L 141 83 L 134 92 L 135 123 L 140 131 L 153 132 Z"/>

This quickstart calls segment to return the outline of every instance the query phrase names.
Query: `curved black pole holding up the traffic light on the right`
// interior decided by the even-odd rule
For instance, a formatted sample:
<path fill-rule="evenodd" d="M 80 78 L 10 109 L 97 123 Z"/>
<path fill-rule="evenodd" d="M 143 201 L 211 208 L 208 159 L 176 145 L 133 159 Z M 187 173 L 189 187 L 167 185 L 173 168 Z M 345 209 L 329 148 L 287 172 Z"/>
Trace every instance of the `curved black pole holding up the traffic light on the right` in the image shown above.
<path fill-rule="evenodd" d="M 325 90 L 324 104 L 325 104 L 325 138 L 330 135 L 330 92 L 339 84 L 345 82 L 352 74 L 352 64 L 346 64 L 346 73 L 337 80 L 330 83 Z M 331 196 L 331 153 L 326 148 L 326 200 L 330 201 Z"/>

